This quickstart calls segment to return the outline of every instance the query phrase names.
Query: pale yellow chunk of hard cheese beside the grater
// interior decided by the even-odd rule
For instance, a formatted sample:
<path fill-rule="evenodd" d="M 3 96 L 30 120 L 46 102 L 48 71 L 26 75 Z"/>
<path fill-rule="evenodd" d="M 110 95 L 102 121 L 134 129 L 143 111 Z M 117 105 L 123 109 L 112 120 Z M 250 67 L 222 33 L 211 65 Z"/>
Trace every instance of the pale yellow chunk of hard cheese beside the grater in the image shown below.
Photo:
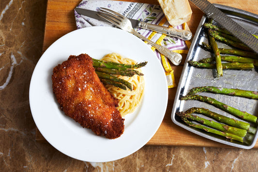
<path fill-rule="evenodd" d="M 191 19 L 192 10 L 188 0 L 158 0 L 167 21 L 178 26 Z"/>

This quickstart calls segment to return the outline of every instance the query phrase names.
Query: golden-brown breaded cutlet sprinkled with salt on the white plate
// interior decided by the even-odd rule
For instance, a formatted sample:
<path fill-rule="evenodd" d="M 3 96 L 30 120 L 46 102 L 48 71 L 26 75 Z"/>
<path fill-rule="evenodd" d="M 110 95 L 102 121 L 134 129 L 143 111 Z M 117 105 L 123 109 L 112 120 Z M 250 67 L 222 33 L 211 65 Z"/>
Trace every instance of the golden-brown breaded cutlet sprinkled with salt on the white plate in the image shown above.
<path fill-rule="evenodd" d="M 53 92 L 65 115 L 96 135 L 121 136 L 124 119 L 116 109 L 118 100 L 104 87 L 87 54 L 70 56 L 53 69 Z"/>

